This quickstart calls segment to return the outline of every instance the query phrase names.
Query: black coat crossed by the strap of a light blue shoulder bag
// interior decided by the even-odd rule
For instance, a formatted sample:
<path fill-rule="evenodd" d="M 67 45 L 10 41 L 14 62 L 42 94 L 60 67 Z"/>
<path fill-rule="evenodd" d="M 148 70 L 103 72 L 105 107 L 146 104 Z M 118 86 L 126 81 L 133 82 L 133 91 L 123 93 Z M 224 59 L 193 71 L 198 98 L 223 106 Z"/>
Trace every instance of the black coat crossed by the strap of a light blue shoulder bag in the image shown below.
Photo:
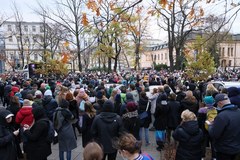
<path fill-rule="evenodd" d="M 148 104 L 150 102 L 148 102 L 148 97 L 140 97 L 140 100 L 139 100 L 139 107 L 138 107 L 138 114 L 140 115 L 141 113 L 145 112 L 146 109 L 147 109 L 147 105 L 148 106 L 148 110 L 147 110 L 147 113 L 148 113 L 148 116 L 144 119 L 141 119 L 141 124 L 140 124 L 140 127 L 144 127 L 144 128 L 148 128 L 150 123 L 152 122 L 151 120 L 151 105 Z"/>

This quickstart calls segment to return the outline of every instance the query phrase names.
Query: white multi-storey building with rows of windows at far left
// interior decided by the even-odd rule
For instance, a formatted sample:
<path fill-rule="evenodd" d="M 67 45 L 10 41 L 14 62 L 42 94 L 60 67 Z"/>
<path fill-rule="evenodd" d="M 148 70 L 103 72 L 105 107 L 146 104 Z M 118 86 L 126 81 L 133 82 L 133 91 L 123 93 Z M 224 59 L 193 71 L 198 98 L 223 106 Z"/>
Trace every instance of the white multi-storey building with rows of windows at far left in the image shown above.
<path fill-rule="evenodd" d="M 21 30 L 20 30 L 21 27 Z M 5 42 L 5 70 L 10 71 L 14 66 L 21 66 L 21 51 L 23 51 L 24 65 L 30 60 L 40 61 L 42 58 L 43 23 L 41 22 L 13 22 L 6 21 L 1 26 L 1 34 Z"/>

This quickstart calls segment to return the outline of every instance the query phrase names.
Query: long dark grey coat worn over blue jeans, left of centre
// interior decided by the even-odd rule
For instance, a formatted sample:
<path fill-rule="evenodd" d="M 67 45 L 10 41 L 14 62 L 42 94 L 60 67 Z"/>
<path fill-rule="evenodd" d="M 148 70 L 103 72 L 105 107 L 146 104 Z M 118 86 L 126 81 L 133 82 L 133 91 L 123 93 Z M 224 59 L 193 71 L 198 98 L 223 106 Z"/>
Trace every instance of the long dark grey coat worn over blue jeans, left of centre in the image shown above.
<path fill-rule="evenodd" d="M 60 111 L 64 117 L 61 128 L 58 130 L 58 142 L 60 151 L 71 151 L 77 147 L 71 120 L 74 119 L 73 114 L 69 109 L 57 108 L 56 112 Z"/>

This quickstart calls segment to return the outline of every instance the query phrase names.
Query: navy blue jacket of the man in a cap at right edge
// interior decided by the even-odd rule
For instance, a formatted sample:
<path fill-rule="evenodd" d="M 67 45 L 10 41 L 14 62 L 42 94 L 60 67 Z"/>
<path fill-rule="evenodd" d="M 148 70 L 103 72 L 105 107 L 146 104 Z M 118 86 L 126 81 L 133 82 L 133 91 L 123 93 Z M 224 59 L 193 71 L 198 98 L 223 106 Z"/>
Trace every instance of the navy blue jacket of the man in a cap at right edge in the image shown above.
<path fill-rule="evenodd" d="M 209 126 L 209 134 L 213 138 L 217 152 L 236 154 L 240 152 L 240 110 L 233 104 L 227 104 Z"/>

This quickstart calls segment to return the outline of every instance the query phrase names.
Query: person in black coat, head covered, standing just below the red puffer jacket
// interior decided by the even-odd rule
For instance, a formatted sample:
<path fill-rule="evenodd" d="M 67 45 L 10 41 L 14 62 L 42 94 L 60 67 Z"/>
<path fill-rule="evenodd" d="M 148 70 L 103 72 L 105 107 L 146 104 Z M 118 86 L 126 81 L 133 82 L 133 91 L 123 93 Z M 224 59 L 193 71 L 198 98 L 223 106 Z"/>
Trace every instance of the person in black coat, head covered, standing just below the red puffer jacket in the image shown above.
<path fill-rule="evenodd" d="M 32 109 L 35 123 L 32 127 L 25 126 L 23 134 L 27 137 L 25 151 L 28 160 L 47 160 L 52 153 L 48 140 L 49 122 L 43 107 Z"/>

